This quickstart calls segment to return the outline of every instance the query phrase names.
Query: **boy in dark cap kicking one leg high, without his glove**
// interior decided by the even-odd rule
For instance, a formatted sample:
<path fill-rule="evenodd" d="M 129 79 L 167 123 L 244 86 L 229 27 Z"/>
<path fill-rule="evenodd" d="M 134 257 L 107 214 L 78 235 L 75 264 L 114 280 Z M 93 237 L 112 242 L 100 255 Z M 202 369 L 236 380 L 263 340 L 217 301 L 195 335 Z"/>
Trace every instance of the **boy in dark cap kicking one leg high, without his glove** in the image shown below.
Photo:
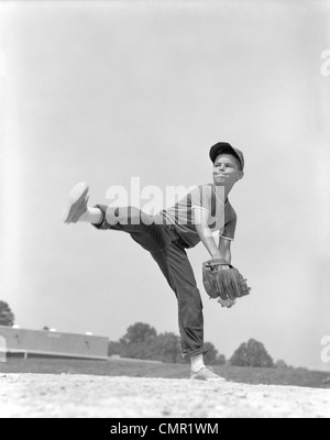
<path fill-rule="evenodd" d="M 224 381 L 204 363 L 207 351 L 202 302 L 186 249 L 202 242 L 211 258 L 231 263 L 237 213 L 228 196 L 244 176 L 244 157 L 240 150 L 226 142 L 213 145 L 209 155 L 213 163 L 213 184 L 197 187 L 175 207 L 157 216 L 147 216 L 133 207 L 124 210 L 102 205 L 88 207 L 89 188 L 82 183 L 70 191 L 64 221 L 85 221 L 97 229 L 127 232 L 148 251 L 177 298 L 182 351 L 183 358 L 190 360 L 190 378 Z M 212 235 L 216 231 L 220 232 L 218 245 Z M 232 305 L 228 300 L 228 307 Z"/>

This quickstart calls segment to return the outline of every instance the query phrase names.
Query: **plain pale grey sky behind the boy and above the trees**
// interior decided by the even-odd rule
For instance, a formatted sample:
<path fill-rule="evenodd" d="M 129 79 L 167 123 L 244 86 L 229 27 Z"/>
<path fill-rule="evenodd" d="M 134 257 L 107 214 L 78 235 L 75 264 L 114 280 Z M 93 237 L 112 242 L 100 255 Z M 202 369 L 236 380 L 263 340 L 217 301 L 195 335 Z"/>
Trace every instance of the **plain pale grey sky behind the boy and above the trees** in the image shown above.
<path fill-rule="evenodd" d="M 223 310 L 188 251 L 205 339 L 230 358 L 249 339 L 329 370 L 329 1 L 0 3 L 0 299 L 22 328 L 118 340 L 142 321 L 178 334 L 177 305 L 130 237 L 65 226 L 70 188 L 211 182 L 209 148 L 245 155 L 230 200 L 232 263 L 252 295 Z M 170 205 L 170 200 L 166 200 Z"/>

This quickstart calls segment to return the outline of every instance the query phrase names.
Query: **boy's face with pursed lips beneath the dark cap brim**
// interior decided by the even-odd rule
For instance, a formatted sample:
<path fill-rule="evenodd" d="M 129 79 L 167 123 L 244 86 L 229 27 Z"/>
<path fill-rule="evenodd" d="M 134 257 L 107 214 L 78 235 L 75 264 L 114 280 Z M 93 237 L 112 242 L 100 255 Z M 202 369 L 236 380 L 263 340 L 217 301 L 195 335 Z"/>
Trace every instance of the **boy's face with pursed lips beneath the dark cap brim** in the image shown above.
<path fill-rule="evenodd" d="M 213 166 L 215 185 L 231 188 L 243 176 L 239 161 L 233 155 L 219 154 Z"/>

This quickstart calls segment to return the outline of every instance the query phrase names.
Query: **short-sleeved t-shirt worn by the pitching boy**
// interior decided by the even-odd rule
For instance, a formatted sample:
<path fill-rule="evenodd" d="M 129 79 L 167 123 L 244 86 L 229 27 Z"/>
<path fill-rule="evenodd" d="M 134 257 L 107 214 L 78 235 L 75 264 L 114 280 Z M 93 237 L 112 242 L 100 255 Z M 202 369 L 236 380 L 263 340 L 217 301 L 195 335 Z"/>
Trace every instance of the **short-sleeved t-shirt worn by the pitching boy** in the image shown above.
<path fill-rule="evenodd" d="M 209 212 L 208 226 L 212 232 L 219 231 L 224 239 L 234 240 L 237 213 L 229 200 L 224 200 L 223 187 L 208 184 L 196 187 L 175 206 L 162 211 L 165 223 L 175 227 L 187 248 L 195 248 L 200 242 L 194 220 L 195 209 Z"/>

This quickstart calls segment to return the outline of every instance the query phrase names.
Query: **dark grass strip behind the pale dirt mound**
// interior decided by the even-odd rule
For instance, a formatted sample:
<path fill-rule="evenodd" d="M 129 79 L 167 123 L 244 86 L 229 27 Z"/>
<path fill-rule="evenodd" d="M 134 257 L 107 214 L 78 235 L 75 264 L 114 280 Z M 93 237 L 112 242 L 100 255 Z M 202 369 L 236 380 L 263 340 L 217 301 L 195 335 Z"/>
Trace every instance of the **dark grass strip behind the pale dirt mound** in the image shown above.
<path fill-rule="evenodd" d="M 230 382 L 263 385 L 290 385 L 330 389 L 330 373 L 302 369 L 249 369 L 215 366 Z M 66 359 L 9 359 L 0 363 L 0 373 L 87 374 L 96 376 L 187 378 L 189 366 L 145 361 L 79 361 Z"/>

